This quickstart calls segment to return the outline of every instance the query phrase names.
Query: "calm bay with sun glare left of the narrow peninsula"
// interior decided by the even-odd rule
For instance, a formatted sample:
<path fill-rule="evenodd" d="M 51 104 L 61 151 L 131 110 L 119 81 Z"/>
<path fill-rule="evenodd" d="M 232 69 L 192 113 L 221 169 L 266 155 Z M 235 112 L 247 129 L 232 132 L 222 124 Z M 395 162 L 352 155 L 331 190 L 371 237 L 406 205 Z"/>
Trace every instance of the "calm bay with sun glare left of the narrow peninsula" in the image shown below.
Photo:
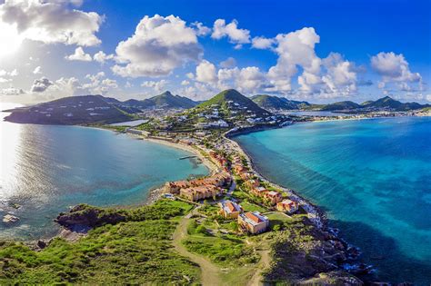
<path fill-rule="evenodd" d="M 47 237 L 57 232 L 58 212 L 76 203 L 142 203 L 166 181 L 208 173 L 193 160 L 178 160 L 186 155 L 105 130 L 0 119 L 0 217 L 14 213 L 21 219 L 0 221 L 0 239 Z M 11 202 L 22 206 L 15 210 Z"/>

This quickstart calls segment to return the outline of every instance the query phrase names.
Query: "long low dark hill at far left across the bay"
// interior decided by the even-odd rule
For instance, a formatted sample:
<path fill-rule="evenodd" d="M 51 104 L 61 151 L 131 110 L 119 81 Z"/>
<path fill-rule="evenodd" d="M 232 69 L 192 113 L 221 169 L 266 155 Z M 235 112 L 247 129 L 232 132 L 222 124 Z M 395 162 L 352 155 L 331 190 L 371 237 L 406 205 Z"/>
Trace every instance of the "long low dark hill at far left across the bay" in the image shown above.
<path fill-rule="evenodd" d="M 130 107 L 111 104 L 102 95 L 70 96 L 54 101 L 12 110 L 5 117 L 14 123 L 87 124 L 117 123 L 133 118 Z"/>

